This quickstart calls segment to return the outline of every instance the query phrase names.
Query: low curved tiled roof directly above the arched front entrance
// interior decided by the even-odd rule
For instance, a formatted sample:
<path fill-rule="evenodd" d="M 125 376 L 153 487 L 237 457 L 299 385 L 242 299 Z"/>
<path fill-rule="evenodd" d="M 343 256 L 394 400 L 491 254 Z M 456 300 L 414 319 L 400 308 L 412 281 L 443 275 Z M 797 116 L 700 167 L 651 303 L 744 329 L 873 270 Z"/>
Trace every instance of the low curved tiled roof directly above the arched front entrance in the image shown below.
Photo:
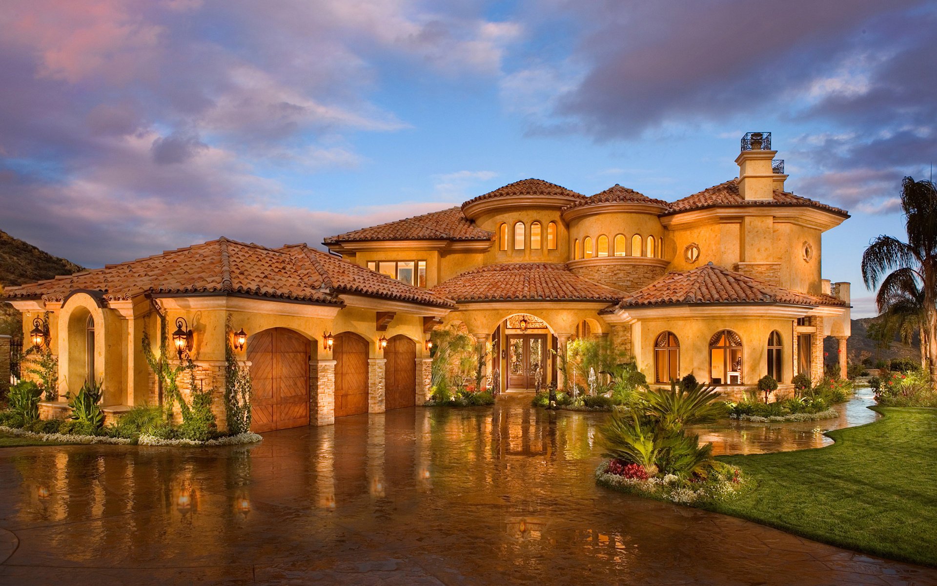
<path fill-rule="evenodd" d="M 432 291 L 457 302 L 615 302 L 626 294 L 579 277 L 564 263 L 489 264 L 443 281 Z"/>

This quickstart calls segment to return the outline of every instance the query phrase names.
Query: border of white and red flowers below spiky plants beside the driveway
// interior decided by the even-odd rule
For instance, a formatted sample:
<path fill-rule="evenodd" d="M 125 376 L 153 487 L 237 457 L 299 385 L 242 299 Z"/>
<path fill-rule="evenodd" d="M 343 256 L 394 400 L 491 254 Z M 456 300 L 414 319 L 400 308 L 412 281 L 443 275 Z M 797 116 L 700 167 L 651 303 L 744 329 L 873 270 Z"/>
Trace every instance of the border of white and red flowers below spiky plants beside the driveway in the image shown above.
<path fill-rule="evenodd" d="M 747 488 L 735 466 L 723 465 L 703 476 L 681 479 L 676 474 L 650 476 L 636 464 L 610 459 L 595 471 L 600 486 L 658 501 L 679 504 L 715 503 Z"/>

